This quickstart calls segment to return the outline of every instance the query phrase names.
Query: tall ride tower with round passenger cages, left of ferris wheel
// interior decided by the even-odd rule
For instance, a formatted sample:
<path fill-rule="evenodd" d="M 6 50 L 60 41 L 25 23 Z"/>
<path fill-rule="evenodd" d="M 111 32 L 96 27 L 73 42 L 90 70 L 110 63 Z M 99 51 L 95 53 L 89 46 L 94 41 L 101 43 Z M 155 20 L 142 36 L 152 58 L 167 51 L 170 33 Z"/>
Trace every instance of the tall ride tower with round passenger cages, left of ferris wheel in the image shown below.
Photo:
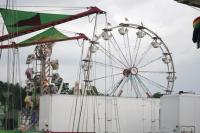
<path fill-rule="evenodd" d="M 25 72 L 26 108 L 22 110 L 21 130 L 38 129 L 39 126 L 39 97 L 48 94 L 66 94 L 63 89 L 63 79 L 57 73 L 58 60 L 52 60 L 53 43 L 37 45 L 35 53 L 27 57 L 28 68 Z M 67 86 L 68 87 L 68 86 Z"/>

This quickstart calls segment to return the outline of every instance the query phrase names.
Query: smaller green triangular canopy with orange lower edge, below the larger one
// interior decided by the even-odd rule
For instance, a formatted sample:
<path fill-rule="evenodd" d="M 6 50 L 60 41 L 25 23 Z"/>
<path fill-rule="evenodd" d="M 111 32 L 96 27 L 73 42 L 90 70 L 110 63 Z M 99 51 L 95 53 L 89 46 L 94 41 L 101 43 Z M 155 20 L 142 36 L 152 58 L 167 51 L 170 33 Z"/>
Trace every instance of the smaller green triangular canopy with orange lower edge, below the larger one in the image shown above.
<path fill-rule="evenodd" d="M 59 32 L 57 29 L 54 27 L 37 34 L 25 41 L 22 41 L 19 43 L 19 47 L 21 46 L 27 46 L 30 44 L 40 44 L 43 42 L 56 42 L 56 41 L 61 41 L 61 40 L 67 40 L 69 37 L 66 35 L 62 34 Z"/>

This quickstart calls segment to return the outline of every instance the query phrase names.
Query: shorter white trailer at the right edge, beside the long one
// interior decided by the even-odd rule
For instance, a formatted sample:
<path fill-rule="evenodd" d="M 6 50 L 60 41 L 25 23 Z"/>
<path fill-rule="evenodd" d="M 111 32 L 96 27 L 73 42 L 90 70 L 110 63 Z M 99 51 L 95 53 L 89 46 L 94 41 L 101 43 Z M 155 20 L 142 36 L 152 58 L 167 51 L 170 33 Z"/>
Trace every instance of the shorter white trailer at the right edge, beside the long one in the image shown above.
<path fill-rule="evenodd" d="M 200 133 L 200 95 L 163 96 L 160 107 L 161 133 Z"/>

